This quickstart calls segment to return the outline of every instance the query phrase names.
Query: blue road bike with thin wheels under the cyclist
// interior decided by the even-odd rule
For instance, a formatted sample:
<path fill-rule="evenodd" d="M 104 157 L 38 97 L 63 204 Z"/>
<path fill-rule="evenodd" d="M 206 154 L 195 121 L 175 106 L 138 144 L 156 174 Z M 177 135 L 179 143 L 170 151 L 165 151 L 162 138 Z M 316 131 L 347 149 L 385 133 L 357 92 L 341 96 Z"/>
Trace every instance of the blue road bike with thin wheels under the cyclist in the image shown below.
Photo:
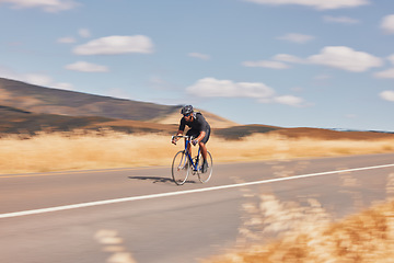
<path fill-rule="evenodd" d="M 172 163 L 172 176 L 174 182 L 177 185 L 183 185 L 187 181 L 187 178 L 192 172 L 193 175 L 198 176 L 198 180 L 201 183 L 207 183 L 210 180 L 213 171 L 213 161 L 211 153 L 208 151 L 207 155 L 208 168 L 206 172 L 202 172 L 204 158 L 201 155 L 201 149 L 198 148 L 198 153 L 194 158 L 192 158 L 192 155 L 188 150 L 188 146 L 194 139 L 193 136 L 176 135 L 172 137 L 172 140 L 176 141 L 176 139 L 179 138 L 185 139 L 185 149 L 176 152 L 174 157 Z"/>

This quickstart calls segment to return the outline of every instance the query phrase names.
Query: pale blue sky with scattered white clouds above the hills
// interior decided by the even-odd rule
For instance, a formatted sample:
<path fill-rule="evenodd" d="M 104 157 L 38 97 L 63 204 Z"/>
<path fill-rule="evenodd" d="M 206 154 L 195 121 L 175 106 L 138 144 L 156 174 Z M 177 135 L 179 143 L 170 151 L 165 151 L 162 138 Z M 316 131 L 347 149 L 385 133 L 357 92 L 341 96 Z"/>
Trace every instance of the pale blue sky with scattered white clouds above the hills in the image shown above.
<path fill-rule="evenodd" d="M 394 132 L 392 0 L 0 0 L 0 77 L 240 124 Z"/>

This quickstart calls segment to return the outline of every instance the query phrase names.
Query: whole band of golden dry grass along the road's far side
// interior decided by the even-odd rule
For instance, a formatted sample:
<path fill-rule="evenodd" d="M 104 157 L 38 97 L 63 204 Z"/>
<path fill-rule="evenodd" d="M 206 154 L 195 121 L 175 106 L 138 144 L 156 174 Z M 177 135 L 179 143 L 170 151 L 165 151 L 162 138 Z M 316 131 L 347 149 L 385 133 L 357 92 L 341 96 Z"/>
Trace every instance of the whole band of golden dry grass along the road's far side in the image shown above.
<path fill-rule="evenodd" d="M 167 135 L 43 133 L 0 139 L 0 173 L 47 172 L 121 167 L 170 165 L 176 147 Z M 394 152 L 394 140 L 285 139 L 255 135 L 243 140 L 212 137 L 208 149 L 215 162 Z M 196 151 L 196 150 L 195 150 Z"/>

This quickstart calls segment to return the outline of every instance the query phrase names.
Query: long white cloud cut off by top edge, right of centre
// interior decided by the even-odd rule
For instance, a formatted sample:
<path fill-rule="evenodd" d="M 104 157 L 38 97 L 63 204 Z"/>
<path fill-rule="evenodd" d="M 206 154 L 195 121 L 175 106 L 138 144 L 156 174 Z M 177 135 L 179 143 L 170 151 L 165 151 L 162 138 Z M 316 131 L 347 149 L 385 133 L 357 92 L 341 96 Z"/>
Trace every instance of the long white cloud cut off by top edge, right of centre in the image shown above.
<path fill-rule="evenodd" d="M 317 10 L 357 8 L 370 3 L 368 0 L 244 0 L 259 4 L 299 4 L 315 8 Z"/>

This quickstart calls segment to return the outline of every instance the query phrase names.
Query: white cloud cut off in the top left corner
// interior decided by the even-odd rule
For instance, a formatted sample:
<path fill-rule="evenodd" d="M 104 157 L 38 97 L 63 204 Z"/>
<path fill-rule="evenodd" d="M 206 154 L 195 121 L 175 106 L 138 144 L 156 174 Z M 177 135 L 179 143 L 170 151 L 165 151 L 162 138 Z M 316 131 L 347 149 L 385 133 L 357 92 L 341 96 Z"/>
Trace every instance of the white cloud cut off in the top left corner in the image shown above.
<path fill-rule="evenodd" d="M 72 0 L 0 0 L 1 3 L 10 3 L 14 9 L 39 8 L 45 12 L 59 12 L 79 5 Z"/>

